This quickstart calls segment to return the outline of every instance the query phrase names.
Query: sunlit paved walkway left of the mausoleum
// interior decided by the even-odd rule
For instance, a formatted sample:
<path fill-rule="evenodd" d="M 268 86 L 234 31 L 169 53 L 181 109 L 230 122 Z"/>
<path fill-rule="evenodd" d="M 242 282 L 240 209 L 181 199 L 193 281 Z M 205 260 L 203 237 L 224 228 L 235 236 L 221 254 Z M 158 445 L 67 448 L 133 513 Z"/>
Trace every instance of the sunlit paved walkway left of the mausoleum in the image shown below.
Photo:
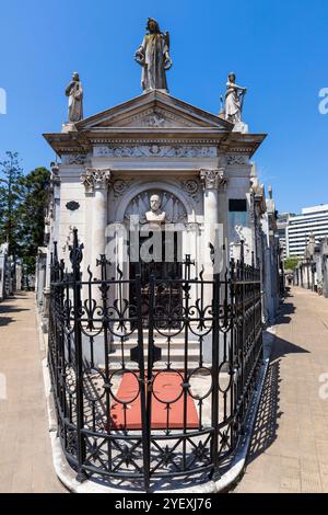
<path fill-rule="evenodd" d="M 0 492 L 67 492 L 52 467 L 42 357 L 34 294 L 1 302 Z"/>

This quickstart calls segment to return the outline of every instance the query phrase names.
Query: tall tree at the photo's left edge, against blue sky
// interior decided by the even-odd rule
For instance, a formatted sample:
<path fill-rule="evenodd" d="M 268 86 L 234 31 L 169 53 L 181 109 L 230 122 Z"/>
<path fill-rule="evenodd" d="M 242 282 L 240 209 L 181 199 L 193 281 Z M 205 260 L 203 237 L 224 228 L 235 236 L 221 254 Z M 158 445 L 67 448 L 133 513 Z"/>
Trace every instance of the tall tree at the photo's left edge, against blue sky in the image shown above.
<path fill-rule="evenodd" d="M 9 243 L 9 253 L 19 255 L 17 210 L 21 203 L 23 170 L 17 152 L 5 152 L 0 161 L 0 243 Z"/>

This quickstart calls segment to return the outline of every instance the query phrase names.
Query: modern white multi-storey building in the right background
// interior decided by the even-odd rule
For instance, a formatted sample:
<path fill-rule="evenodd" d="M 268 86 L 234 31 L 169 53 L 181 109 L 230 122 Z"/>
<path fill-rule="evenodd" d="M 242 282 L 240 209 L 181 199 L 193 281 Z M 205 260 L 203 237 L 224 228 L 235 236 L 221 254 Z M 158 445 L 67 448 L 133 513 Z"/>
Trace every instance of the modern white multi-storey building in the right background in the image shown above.
<path fill-rule="evenodd" d="M 278 230 L 283 256 L 302 258 L 311 234 L 315 236 L 317 243 L 328 236 L 328 204 L 305 207 L 302 215 L 282 213 L 278 219 Z"/>

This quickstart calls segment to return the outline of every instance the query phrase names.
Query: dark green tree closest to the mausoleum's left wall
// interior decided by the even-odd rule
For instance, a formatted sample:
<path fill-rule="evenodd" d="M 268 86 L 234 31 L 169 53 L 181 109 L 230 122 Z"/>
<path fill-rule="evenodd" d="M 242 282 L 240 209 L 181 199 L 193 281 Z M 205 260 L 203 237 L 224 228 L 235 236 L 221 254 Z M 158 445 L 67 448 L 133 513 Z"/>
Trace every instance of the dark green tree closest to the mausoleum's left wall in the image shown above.
<path fill-rule="evenodd" d="M 37 248 L 44 244 L 46 208 L 50 192 L 50 172 L 46 168 L 36 168 L 20 181 L 20 256 L 34 272 Z"/>

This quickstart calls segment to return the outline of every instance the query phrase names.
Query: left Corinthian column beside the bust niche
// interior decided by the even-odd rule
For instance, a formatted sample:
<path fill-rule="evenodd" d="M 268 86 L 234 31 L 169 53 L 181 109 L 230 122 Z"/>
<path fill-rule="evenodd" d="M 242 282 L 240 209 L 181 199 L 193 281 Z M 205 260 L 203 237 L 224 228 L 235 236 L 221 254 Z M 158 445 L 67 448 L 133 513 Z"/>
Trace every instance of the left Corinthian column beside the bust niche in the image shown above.
<path fill-rule="evenodd" d="M 85 186 L 85 193 L 94 194 L 93 198 L 93 220 L 90 231 L 92 244 L 92 268 L 96 274 L 96 260 L 106 250 L 106 227 L 107 227 L 107 194 L 110 181 L 110 170 L 107 168 L 87 168 L 81 175 L 81 181 Z"/>

